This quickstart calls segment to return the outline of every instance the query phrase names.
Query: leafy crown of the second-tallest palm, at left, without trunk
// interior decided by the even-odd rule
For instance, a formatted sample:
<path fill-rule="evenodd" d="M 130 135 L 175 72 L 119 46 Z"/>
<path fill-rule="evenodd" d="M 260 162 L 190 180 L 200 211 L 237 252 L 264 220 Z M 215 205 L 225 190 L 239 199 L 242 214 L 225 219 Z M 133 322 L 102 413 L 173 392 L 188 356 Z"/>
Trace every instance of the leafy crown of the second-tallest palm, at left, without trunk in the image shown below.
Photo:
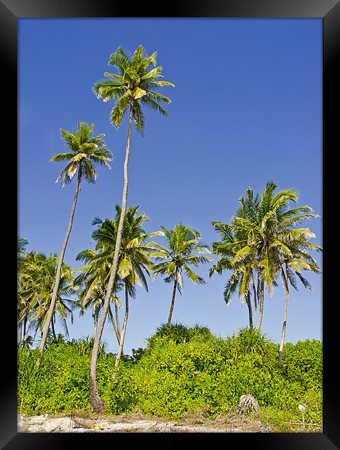
<path fill-rule="evenodd" d="M 107 161 L 111 161 L 111 152 L 106 148 L 103 136 L 92 136 L 94 124 L 87 125 L 81 122 L 77 124 L 77 129 L 73 133 L 60 129 L 66 147 L 70 150 L 67 153 L 55 154 L 50 161 L 67 161 L 68 165 L 60 172 L 56 183 L 64 179 L 63 188 L 70 183 L 75 172 L 79 170 L 79 176 L 84 176 L 88 183 L 95 183 L 97 172 L 95 164 L 106 165 L 111 169 Z"/>

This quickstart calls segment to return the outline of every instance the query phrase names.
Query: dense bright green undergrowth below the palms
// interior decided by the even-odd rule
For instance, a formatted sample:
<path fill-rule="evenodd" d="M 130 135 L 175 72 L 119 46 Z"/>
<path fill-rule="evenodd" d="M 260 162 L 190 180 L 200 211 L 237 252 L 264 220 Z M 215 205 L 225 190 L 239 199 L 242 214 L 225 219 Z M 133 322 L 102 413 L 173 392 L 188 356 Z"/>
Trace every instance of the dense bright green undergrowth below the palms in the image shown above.
<path fill-rule="evenodd" d="M 18 350 L 18 411 L 28 415 L 90 411 L 88 373 L 93 339 L 50 343 L 37 367 L 39 350 Z M 180 418 L 192 411 L 209 417 L 234 411 L 241 395 L 252 395 L 260 418 L 279 431 L 286 422 L 321 423 L 322 343 L 278 345 L 247 328 L 227 339 L 207 327 L 162 325 L 115 369 L 115 355 L 100 348 L 97 386 L 109 414 L 141 411 Z M 113 372 L 115 379 L 112 379 Z"/>

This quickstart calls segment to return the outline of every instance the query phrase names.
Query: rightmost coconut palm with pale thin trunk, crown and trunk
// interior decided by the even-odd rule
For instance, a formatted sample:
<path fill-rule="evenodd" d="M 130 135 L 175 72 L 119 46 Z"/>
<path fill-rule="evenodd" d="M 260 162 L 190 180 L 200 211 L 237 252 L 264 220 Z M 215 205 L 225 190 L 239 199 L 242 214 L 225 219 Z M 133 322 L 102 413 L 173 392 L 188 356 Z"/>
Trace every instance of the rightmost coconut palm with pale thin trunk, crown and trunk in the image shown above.
<path fill-rule="evenodd" d="M 308 251 L 321 251 L 321 246 L 308 242 L 315 237 L 309 228 L 296 228 L 297 224 L 306 219 L 319 217 L 314 214 L 310 206 L 296 206 L 290 208 L 290 201 L 296 203 L 298 195 L 295 190 L 287 189 L 276 192 L 277 185 L 268 181 L 261 201 L 258 204 L 257 226 L 254 220 L 238 219 L 237 225 L 243 230 L 252 230 L 252 245 L 256 246 L 261 267 L 261 278 L 270 291 L 276 284 L 275 279 L 280 276 L 285 291 L 283 328 L 279 348 L 278 361 L 281 361 L 285 332 L 287 326 L 287 300 L 289 298 L 288 282 L 297 289 L 295 276 L 304 287 L 310 284 L 301 275 L 301 271 L 308 270 L 321 273 L 317 262 Z"/>

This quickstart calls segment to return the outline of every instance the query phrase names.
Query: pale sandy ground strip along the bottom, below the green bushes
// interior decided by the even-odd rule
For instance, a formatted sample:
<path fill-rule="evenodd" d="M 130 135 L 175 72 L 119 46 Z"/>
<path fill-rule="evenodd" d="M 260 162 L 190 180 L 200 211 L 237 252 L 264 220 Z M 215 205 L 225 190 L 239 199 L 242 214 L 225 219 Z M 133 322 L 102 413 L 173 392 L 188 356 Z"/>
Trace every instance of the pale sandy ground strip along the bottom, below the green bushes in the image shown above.
<path fill-rule="evenodd" d="M 82 412 L 56 415 L 18 416 L 21 433 L 270 433 L 270 426 L 240 415 L 227 415 L 209 420 L 188 415 L 170 421 L 147 417 L 141 413 L 125 415 L 89 415 Z"/>

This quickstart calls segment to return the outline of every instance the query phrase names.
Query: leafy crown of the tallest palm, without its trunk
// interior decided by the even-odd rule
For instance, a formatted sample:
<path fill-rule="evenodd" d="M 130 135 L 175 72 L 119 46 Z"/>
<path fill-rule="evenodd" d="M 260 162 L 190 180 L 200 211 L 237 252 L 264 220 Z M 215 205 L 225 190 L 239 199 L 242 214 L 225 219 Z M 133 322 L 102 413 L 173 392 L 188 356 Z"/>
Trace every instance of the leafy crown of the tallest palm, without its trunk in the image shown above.
<path fill-rule="evenodd" d="M 118 47 L 117 51 L 112 53 L 108 65 L 115 66 L 119 73 L 105 72 L 106 78 L 94 84 L 93 92 L 97 98 L 102 98 L 104 102 L 115 100 L 110 116 L 115 127 L 120 127 L 129 106 L 135 127 L 140 133 L 144 129 L 142 106 L 167 116 L 167 111 L 161 103 L 169 104 L 171 100 L 158 91 L 164 86 L 174 87 L 174 84 L 159 80 L 162 77 L 162 66 L 156 67 L 156 56 L 157 52 L 148 56 L 141 45 L 133 55 L 126 55 L 123 48 Z"/>

